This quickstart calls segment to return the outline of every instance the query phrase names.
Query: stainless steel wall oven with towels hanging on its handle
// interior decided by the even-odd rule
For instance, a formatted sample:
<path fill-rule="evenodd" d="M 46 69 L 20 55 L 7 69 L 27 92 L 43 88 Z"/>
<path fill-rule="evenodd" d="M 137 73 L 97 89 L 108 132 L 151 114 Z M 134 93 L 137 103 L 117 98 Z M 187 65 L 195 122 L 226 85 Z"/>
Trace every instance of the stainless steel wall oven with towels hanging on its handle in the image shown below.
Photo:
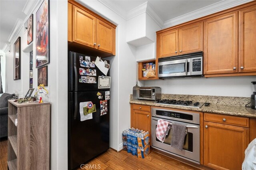
<path fill-rule="evenodd" d="M 159 109 L 151 107 L 151 141 L 152 147 L 173 154 L 175 156 L 200 163 L 200 114 L 185 111 L 174 111 L 171 109 Z M 157 121 L 163 119 L 172 123 L 186 125 L 186 136 L 183 150 L 180 151 L 170 146 L 172 139 L 172 129 L 169 130 L 164 142 L 156 138 Z"/>

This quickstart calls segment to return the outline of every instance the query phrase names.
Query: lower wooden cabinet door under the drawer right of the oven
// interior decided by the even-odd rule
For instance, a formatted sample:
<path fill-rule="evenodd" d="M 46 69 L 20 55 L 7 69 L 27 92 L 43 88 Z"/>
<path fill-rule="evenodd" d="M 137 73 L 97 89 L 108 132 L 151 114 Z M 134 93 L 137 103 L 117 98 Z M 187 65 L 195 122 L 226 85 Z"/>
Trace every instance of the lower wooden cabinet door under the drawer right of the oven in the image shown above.
<path fill-rule="evenodd" d="M 248 141 L 248 128 L 204 122 L 204 165 L 241 170 Z"/>

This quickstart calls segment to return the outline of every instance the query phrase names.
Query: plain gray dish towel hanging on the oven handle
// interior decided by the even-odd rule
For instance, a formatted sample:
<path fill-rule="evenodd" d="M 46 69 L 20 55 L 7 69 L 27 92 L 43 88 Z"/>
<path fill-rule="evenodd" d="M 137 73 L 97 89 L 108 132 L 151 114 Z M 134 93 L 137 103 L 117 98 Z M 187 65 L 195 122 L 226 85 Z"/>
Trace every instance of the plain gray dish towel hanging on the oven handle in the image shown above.
<path fill-rule="evenodd" d="M 186 136 L 186 125 L 172 123 L 172 140 L 171 146 L 178 150 L 183 149 L 183 144 Z"/>

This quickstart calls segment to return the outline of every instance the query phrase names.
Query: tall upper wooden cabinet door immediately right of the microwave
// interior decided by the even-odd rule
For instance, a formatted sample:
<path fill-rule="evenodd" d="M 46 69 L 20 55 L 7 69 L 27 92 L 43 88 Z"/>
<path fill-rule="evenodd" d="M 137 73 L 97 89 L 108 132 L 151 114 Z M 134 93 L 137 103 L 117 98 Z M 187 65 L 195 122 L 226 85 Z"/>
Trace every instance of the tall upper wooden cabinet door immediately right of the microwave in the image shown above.
<path fill-rule="evenodd" d="M 237 13 L 204 22 L 204 74 L 238 72 Z"/>

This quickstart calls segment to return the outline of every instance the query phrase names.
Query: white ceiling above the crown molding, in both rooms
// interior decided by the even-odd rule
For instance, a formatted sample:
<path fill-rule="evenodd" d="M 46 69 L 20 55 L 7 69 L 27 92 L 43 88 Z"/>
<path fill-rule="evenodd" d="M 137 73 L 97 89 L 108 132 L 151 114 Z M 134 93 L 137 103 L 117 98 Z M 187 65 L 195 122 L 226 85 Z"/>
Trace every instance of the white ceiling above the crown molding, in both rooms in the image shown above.
<path fill-rule="evenodd" d="M 163 22 L 202 9 L 213 4 L 228 4 L 235 2 L 248 2 L 250 0 L 98 0 L 108 4 L 127 19 L 127 14 L 134 8 L 148 2 Z M 9 45 L 8 39 L 17 21 L 26 19 L 33 2 L 38 4 L 40 0 L 0 0 L 0 50 L 4 45 Z M 36 3 L 37 2 L 37 3 Z M 32 3 L 30 3 L 32 4 Z M 34 5 L 36 6 L 36 5 Z M 33 7 L 34 7 L 33 6 Z M 26 9 L 25 9 L 26 8 Z M 35 8 L 35 7 L 34 7 Z M 26 11 L 27 10 L 27 11 Z M 31 14 L 31 13 L 30 13 Z M 125 16 L 126 15 L 126 16 Z"/>

